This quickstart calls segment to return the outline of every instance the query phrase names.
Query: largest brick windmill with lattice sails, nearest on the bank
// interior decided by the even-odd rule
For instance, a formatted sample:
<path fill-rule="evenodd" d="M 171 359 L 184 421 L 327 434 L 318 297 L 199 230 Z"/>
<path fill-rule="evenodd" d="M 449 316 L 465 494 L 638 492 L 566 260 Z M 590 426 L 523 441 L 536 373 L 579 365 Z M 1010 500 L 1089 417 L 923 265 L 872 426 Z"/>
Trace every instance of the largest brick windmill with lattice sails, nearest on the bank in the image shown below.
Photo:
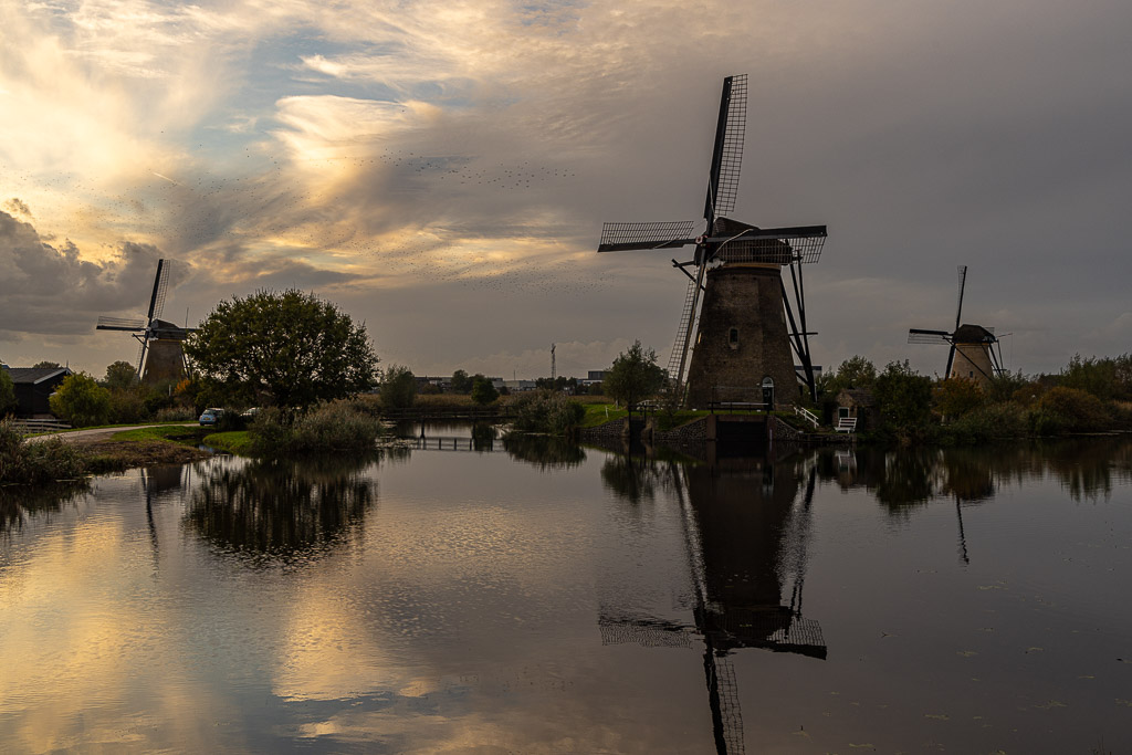
<path fill-rule="evenodd" d="M 720 98 L 702 235 L 691 237 L 695 221 L 606 223 L 598 247 L 695 247 L 693 259 L 672 260 L 688 276 L 688 289 L 668 364 L 677 395 L 691 406 L 789 402 L 798 384 L 795 355 L 811 396 L 816 395 L 801 265 L 821 257 L 825 226 L 760 229 L 724 217 L 735 209 L 746 122 L 747 76 L 729 76 Z M 790 268 L 794 306 L 783 267 Z"/>

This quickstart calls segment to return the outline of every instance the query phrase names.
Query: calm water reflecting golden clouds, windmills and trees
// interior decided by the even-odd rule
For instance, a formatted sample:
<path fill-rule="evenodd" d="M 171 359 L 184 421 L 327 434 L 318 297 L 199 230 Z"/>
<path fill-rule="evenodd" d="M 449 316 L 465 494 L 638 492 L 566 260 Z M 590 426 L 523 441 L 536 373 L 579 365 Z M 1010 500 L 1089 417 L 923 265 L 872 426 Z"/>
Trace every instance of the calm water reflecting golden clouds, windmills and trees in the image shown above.
<path fill-rule="evenodd" d="M 1127 439 L 489 445 L 0 490 L 0 749 L 1132 752 Z"/>

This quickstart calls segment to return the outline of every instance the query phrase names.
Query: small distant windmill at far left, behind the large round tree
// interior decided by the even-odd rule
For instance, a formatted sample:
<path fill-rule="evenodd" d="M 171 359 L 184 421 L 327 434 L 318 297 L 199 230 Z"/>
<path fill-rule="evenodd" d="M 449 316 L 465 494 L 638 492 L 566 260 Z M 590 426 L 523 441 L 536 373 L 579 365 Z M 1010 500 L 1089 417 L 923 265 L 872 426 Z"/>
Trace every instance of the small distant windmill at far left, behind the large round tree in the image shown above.
<path fill-rule="evenodd" d="M 188 371 L 181 344 L 195 328 L 182 328 L 161 319 L 162 310 L 165 308 L 165 294 L 169 291 L 169 263 L 158 259 L 157 274 L 153 278 L 153 293 L 149 295 L 149 312 L 145 319 L 103 315 L 98 317 L 98 325 L 95 328 L 134 334 L 139 344 L 137 374 L 146 384 L 177 380 L 185 377 Z"/>

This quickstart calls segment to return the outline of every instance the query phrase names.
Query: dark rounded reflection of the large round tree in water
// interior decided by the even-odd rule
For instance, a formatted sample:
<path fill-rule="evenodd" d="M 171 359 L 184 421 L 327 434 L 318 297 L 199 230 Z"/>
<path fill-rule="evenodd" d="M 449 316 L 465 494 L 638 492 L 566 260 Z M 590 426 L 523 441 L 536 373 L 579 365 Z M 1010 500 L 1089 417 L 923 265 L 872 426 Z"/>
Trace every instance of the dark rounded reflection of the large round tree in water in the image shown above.
<path fill-rule="evenodd" d="M 377 498 L 371 458 L 319 457 L 214 465 L 194 489 L 186 523 L 254 560 L 315 558 L 361 525 Z"/>

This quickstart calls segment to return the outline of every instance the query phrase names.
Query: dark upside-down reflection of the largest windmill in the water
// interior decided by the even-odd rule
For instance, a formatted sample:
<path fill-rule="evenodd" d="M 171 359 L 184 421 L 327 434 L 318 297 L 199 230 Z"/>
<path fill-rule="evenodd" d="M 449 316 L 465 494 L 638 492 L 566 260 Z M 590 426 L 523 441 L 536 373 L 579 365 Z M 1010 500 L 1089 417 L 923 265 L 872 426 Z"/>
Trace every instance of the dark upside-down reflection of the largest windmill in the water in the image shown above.
<path fill-rule="evenodd" d="M 743 753 L 743 715 L 729 653 L 762 647 L 824 659 L 821 626 L 801 614 L 816 464 L 724 460 L 713 466 L 612 457 L 608 489 L 636 506 L 663 488 L 679 506 L 694 626 L 603 606 L 603 644 L 703 642 L 715 749 Z"/>

